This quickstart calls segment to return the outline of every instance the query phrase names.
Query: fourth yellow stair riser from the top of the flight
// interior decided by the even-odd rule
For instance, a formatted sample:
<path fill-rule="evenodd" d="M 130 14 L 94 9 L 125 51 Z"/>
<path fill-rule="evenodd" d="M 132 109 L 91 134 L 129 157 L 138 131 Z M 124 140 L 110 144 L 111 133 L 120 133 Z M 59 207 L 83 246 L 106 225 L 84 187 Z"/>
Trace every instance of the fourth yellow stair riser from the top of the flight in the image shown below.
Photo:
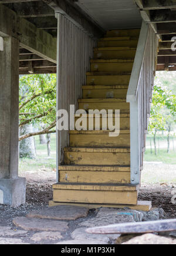
<path fill-rule="evenodd" d="M 133 62 L 106 62 L 106 63 L 92 63 L 90 65 L 91 72 L 131 72 Z"/>

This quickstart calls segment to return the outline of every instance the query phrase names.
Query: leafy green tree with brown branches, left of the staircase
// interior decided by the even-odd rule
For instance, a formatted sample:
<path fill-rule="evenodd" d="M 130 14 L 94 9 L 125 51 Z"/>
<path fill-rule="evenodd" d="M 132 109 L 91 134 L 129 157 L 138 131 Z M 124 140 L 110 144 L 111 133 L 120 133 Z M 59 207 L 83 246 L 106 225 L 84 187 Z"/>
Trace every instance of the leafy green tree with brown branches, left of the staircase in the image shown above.
<path fill-rule="evenodd" d="M 44 124 L 39 132 L 19 137 L 19 141 L 56 132 L 56 75 L 23 75 L 19 78 L 19 127 Z"/>

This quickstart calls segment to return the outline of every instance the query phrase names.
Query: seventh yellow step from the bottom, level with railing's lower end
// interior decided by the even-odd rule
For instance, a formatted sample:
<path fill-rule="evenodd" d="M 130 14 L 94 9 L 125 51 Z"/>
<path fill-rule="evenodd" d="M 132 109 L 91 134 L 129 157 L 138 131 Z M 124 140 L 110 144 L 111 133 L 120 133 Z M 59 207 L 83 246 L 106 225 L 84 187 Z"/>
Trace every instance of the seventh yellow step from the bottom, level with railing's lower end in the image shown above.
<path fill-rule="evenodd" d="M 126 98 L 128 85 L 83 85 L 83 98 Z"/>

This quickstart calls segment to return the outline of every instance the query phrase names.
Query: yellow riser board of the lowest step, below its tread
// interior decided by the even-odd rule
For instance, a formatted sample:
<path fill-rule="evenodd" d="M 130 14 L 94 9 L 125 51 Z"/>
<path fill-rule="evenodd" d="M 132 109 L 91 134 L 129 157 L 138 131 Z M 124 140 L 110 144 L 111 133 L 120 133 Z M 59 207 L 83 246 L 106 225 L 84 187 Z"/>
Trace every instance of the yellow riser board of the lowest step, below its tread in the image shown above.
<path fill-rule="evenodd" d="M 136 205 L 137 191 L 83 191 L 72 189 L 54 189 L 53 201 Z"/>

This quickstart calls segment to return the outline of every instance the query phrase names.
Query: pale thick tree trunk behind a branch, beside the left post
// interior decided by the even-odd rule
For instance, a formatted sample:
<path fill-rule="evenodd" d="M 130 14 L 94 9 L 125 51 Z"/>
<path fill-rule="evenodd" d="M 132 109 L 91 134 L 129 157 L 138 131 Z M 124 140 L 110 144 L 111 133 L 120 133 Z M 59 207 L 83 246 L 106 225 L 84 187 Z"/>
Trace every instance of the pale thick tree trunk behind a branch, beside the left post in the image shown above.
<path fill-rule="evenodd" d="M 32 124 L 30 125 L 24 125 L 19 129 L 19 135 L 24 135 L 28 134 L 29 132 L 33 131 Z M 19 157 L 20 158 L 35 158 L 36 157 L 36 151 L 35 151 L 35 143 L 34 139 L 27 138 L 23 139 L 22 141 L 19 142 Z"/>

